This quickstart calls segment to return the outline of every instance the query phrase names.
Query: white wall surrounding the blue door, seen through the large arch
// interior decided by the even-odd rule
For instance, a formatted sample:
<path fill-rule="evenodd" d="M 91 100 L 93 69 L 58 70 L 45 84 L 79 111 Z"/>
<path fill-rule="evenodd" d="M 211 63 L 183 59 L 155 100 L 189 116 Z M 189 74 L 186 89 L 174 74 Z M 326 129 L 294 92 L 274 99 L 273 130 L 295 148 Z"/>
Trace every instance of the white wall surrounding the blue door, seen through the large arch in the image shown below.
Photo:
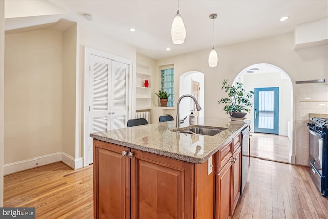
<path fill-rule="evenodd" d="M 246 91 L 254 91 L 254 88 L 260 87 L 279 87 L 279 135 L 287 136 L 288 122 L 291 122 L 291 103 L 292 87 L 289 78 L 281 72 L 266 72 L 243 74 L 241 82 L 244 84 Z M 254 96 L 253 101 L 254 103 Z M 254 120 L 254 105 L 250 108 L 251 112 L 247 117 Z M 251 123 L 251 130 L 254 130 L 254 123 Z"/>

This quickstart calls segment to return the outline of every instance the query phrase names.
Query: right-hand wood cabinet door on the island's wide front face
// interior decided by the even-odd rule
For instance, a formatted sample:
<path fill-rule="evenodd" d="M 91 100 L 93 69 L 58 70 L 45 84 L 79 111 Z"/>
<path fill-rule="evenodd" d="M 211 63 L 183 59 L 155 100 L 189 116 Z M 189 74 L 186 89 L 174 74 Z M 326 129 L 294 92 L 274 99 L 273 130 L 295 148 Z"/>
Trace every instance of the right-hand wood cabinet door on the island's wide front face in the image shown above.
<path fill-rule="evenodd" d="M 194 165 L 131 152 L 131 218 L 194 218 Z"/>

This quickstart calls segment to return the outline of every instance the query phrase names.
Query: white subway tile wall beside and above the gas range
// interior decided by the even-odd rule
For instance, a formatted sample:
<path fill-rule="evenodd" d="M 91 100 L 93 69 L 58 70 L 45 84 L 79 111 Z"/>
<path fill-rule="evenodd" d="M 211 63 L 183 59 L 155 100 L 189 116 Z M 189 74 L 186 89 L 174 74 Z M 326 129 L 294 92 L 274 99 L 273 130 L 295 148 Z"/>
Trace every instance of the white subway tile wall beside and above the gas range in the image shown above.
<path fill-rule="evenodd" d="M 296 85 L 296 164 L 308 166 L 309 114 L 328 114 L 328 85 Z"/>

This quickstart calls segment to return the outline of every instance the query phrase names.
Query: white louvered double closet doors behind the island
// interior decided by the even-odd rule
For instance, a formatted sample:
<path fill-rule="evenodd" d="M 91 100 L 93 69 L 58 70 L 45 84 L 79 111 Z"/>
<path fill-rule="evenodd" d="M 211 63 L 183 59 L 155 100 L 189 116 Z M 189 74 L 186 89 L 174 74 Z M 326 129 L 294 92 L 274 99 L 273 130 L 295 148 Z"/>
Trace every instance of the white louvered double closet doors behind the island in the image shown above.
<path fill-rule="evenodd" d="M 129 65 L 90 55 L 89 133 L 124 128 L 128 118 Z M 88 163 L 93 163 L 89 137 Z"/>

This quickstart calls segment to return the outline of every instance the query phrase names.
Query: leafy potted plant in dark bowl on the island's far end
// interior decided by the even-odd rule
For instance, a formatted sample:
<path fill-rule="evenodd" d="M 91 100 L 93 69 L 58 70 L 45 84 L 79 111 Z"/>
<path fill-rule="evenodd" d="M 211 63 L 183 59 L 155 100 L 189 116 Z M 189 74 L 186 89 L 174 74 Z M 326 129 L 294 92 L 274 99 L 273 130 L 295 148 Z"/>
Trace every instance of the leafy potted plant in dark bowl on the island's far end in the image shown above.
<path fill-rule="evenodd" d="M 223 110 L 231 117 L 243 118 L 245 117 L 246 112 L 251 111 L 247 107 L 253 105 L 251 102 L 251 98 L 254 94 L 253 91 L 245 92 L 243 84 L 240 82 L 236 82 L 235 85 L 231 86 L 228 84 L 227 79 L 224 79 L 222 82 L 221 89 L 226 91 L 229 98 L 221 98 L 218 104 L 226 104 Z"/>

